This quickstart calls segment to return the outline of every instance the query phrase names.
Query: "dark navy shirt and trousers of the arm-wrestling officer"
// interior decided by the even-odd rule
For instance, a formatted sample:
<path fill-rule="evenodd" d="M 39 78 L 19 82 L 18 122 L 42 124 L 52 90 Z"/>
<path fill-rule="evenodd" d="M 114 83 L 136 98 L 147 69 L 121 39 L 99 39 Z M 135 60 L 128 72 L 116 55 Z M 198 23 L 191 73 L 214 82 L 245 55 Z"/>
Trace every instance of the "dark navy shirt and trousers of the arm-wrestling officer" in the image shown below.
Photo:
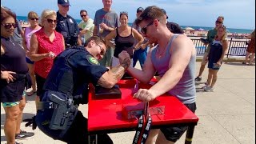
<path fill-rule="evenodd" d="M 65 95 L 73 98 L 74 104 L 86 103 L 88 98 L 89 83 L 97 84 L 108 69 L 100 66 L 98 61 L 84 47 L 70 47 L 64 50 L 54 59 L 54 65 L 46 78 L 43 87 L 44 93 L 40 97 L 41 102 L 50 101 L 50 93 L 66 99 Z M 50 128 L 54 109 L 38 110 L 35 121 L 38 128 L 51 138 L 68 143 L 86 143 L 87 119 L 78 111 L 74 114 L 69 126 L 65 130 L 53 130 Z M 69 119 L 70 122 L 70 119 Z M 100 135 L 101 143 L 113 143 L 107 134 Z"/>

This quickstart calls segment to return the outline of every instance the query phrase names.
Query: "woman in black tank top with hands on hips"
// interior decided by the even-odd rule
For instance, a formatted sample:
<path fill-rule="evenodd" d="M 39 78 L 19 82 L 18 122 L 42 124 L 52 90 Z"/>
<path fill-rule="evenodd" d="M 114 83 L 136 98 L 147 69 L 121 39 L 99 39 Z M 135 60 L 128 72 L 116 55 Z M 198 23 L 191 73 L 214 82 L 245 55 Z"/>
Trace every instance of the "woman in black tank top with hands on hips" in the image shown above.
<path fill-rule="evenodd" d="M 118 54 L 120 54 L 122 50 L 126 50 L 128 54 L 130 54 L 130 58 L 133 58 L 134 50 L 138 50 L 144 41 L 144 38 L 138 33 L 137 30 L 128 26 L 127 12 L 120 13 L 120 23 L 121 26 L 119 26 L 116 30 L 111 31 L 111 33 L 106 35 L 105 38 L 106 44 L 110 47 L 114 47 L 114 57 L 112 58 L 111 67 L 118 66 Z M 110 42 L 113 38 L 115 46 L 112 42 Z M 138 43 L 134 46 L 135 39 L 137 39 Z M 133 62 L 131 62 L 131 65 L 132 64 Z"/>

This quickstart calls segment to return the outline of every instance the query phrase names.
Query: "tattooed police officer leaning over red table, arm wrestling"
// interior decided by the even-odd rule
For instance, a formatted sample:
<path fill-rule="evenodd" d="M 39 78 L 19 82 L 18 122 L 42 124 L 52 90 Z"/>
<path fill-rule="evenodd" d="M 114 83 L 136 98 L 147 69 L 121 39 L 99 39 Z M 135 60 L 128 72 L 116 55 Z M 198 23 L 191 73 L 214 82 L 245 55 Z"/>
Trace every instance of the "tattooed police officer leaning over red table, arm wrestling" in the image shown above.
<path fill-rule="evenodd" d="M 119 66 L 111 70 L 100 66 L 98 59 L 105 53 L 103 38 L 93 36 L 85 47 L 70 47 L 54 59 L 34 118 L 43 133 L 63 142 L 87 143 L 87 119 L 77 105 L 87 102 L 89 82 L 111 88 L 130 66 L 130 56 L 125 51 L 119 54 Z M 98 143 L 113 142 L 107 134 L 101 134 Z"/>

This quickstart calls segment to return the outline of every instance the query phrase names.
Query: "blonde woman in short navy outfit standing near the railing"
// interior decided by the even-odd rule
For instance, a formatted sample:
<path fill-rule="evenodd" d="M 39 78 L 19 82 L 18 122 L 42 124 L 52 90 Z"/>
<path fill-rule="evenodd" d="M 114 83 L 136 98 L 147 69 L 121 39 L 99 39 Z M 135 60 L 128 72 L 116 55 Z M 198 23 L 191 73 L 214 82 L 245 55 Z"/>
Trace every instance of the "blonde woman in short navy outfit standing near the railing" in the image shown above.
<path fill-rule="evenodd" d="M 214 91 L 214 85 L 217 81 L 217 73 L 222 66 L 223 58 L 227 52 L 228 41 L 226 40 L 226 27 L 220 26 L 214 41 L 210 43 L 210 52 L 208 54 L 208 80 L 207 85 L 202 89 L 205 91 Z"/>

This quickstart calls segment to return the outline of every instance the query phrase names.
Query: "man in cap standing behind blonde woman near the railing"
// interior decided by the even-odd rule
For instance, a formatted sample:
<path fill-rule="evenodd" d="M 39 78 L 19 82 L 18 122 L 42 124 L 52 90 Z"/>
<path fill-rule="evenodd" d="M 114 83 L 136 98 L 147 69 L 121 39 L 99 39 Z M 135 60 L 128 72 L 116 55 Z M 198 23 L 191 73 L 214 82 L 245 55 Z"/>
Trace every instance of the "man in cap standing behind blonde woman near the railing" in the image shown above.
<path fill-rule="evenodd" d="M 202 80 L 202 72 L 205 70 L 206 63 L 207 63 L 207 57 L 210 52 L 210 42 L 214 41 L 215 35 L 217 34 L 217 30 L 219 26 L 223 25 L 224 17 L 223 16 L 218 16 L 217 20 L 215 21 L 215 28 L 213 30 L 209 30 L 207 33 L 206 39 L 201 38 L 201 42 L 203 42 L 205 45 L 208 45 L 206 48 L 206 52 L 203 55 L 200 70 L 198 77 L 194 79 L 195 82 L 200 82 Z"/>

